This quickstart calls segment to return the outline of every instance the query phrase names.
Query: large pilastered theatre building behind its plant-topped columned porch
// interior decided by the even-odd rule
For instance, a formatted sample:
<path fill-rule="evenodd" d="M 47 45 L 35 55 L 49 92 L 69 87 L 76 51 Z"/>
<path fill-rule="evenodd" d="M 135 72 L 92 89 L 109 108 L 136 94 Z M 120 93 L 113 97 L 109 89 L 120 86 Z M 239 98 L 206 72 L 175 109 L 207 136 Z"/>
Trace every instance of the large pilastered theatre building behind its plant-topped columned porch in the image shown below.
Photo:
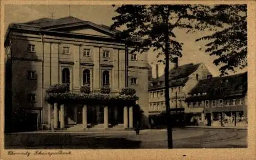
<path fill-rule="evenodd" d="M 80 86 L 90 85 L 91 93 L 99 93 L 102 86 L 109 85 L 111 94 L 118 94 L 124 87 L 136 90 L 144 112 L 142 123 L 146 124 L 145 77 L 150 74 L 147 54 L 127 54 L 125 44 L 114 38 L 117 32 L 75 17 L 10 24 L 5 37 L 6 118 L 24 109 L 38 127 L 48 123 L 44 97 L 51 85 L 67 84 L 70 92 L 79 92 Z M 65 113 L 68 124 L 81 123 L 80 110 L 68 107 Z M 98 117 L 98 123 L 102 121 L 102 110 L 90 112 Z M 118 114 L 121 123 L 123 111 Z"/>

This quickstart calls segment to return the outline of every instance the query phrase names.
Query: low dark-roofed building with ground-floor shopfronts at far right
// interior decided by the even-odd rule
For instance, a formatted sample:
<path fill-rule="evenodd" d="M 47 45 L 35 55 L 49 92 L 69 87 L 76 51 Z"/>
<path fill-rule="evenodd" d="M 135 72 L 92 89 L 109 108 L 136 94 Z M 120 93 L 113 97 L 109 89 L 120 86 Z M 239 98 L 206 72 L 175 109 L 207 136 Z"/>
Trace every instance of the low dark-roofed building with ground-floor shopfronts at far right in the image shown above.
<path fill-rule="evenodd" d="M 221 126 L 247 125 L 247 72 L 202 79 L 186 98 L 192 116 L 199 124 Z M 188 121 L 189 121 L 188 117 Z"/>

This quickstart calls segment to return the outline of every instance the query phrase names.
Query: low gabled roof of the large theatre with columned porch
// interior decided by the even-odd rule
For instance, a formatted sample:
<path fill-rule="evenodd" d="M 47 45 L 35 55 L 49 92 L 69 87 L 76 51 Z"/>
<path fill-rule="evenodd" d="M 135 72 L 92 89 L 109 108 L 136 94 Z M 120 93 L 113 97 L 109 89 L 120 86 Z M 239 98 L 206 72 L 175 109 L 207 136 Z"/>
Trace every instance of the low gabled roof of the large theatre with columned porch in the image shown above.
<path fill-rule="evenodd" d="M 49 34 L 72 34 L 75 35 L 83 35 L 83 34 L 77 34 L 77 33 L 70 33 L 72 30 L 77 30 L 85 27 L 93 28 L 99 32 L 102 32 L 108 36 L 101 36 L 103 38 L 109 38 L 109 39 L 115 39 L 115 35 L 120 32 L 116 29 L 111 29 L 110 26 L 106 26 L 103 24 L 96 24 L 90 21 L 84 21 L 72 16 L 69 17 L 63 17 L 63 18 L 40 18 L 32 21 L 28 21 L 25 23 L 11 23 L 8 26 L 6 35 L 5 35 L 5 41 L 7 41 L 8 36 L 10 34 L 10 31 L 13 29 L 18 30 L 29 30 L 29 31 L 35 31 L 35 32 L 44 32 Z M 87 35 L 92 36 L 92 35 Z M 99 36 L 98 36 L 99 37 Z M 141 40 L 138 37 L 134 38 L 134 42 Z M 6 44 L 6 42 L 5 42 Z"/>

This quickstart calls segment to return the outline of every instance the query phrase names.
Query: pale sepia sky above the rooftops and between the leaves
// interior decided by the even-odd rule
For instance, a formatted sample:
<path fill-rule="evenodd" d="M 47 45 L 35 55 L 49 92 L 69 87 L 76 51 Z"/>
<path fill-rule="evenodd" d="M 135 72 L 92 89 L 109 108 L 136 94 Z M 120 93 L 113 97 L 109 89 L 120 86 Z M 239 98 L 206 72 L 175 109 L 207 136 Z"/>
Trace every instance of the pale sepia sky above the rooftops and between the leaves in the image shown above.
<path fill-rule="evenodd" d="M 116 7 L 115 7 L 116 8 Z M 62 18 L 73 16 L 81 20 L 92 21 L 97 24 L 111 25 L 112 17 L 117 16 L 115 8 L 109 5 L 6 5 L 5 6 L 5 30 L 10 23 L 27 22 L 39 18 Z M 219 76 L 220 66 L 212 62 L 217 58 L 209 56 L 204 52 L 205 41 L 195 42 L 197 38 L 204 36 L 207 32 L 188 33 L 182 30 L 175 30 L 177 40 L 183 43 L 182 57 L 179 58 L 179 65 L 188 63 L 204 63 L 213 76 Z M 156 76 L 155 66 L 159 65 L 159 76 L 164 73 L 164 65 L 157 63 L 157 52 L 148 51 L 148 63 L 152 66 L 153 77 Z M 170 68 L 173 64 L 170 64 Z M 236 73 L 245 72 L 247 68 L 237 69 Z M 234 74 L 229 72 L 229 74 Z"/>

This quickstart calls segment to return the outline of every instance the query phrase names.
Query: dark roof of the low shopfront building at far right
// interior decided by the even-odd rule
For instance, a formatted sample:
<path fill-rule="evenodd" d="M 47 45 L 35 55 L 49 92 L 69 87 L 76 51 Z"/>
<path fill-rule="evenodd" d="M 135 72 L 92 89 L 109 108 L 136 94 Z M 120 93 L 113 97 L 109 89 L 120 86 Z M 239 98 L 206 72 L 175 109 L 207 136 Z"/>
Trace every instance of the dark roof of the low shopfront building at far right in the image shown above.
<path fill-rule="evenodd" d="M 196 97 L 216 97 L 228 95 L 241 95 L 247 92 L 247 72 L 223 77 L 212 77 L 201 79 L 197 85 L 188 93 L 197 94 Z M 201 96 L 198 96 L 201 93 Z M 206 93 L 206 95 L 202 95 Z M 193 97 L 195 98 L 195 97 Z"/>

